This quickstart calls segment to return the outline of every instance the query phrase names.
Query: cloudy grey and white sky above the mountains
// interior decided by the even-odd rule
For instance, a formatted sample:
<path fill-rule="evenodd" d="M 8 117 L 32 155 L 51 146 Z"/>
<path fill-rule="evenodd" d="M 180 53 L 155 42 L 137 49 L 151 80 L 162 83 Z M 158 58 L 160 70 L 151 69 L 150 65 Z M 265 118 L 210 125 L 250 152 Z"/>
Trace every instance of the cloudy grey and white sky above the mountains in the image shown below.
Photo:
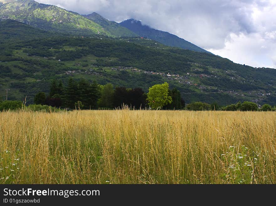
<path fill-rule="evenodd" d="M 240 64 L 276 68 L 276 0 L 37 0 L 121 22 L 135 18 Z"/>

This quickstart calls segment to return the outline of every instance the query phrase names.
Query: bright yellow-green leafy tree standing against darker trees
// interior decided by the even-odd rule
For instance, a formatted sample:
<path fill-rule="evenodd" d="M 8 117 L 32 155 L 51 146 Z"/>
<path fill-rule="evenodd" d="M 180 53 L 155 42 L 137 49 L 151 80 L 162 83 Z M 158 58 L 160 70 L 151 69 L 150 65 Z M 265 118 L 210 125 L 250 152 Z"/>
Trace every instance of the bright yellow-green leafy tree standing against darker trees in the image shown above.
<path fill-rule="evenodd" d="M 172 97 L 169 96 L 169 84 L 156 84 L 149 88 L 147 101 L 151 108 L 158 109 L 164 105 L 172 103 Z"/>

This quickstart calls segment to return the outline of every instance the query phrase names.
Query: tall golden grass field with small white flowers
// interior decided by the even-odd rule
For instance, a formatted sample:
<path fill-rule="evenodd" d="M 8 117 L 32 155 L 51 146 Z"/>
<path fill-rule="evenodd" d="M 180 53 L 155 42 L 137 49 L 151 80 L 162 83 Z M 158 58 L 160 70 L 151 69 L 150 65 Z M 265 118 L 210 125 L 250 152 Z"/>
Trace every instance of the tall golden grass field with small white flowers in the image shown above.
<path fill-rule="evenodd" d="M 276 113 L 0 113 L 0 183 L 276 183 Z"/>

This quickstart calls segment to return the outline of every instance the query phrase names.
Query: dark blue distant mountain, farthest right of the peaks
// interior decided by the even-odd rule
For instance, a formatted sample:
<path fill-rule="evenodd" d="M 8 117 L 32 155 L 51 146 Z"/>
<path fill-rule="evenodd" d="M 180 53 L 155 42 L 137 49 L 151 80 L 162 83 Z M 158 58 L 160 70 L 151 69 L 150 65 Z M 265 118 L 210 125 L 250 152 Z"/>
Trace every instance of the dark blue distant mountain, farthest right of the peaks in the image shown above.
<path fill-rule="evenodd" d="M 188 49 L 192 51 L 210 53 L 209 51 L 201 49 L 200 47 L 184 39 L 181 39 L 174 34 L 170 34 L 168 32 L 160 31 L 157 29 L 152 29 L 147 25 L 142 25 L 141 21 L 138 21 L 132 18 L 127 19 L 119 24 L 127 29 L 130 29 L 136 34 L 139 34 L 141 37 L 146 37 L 148 39 L 156 40 L 164 45 L 179 47 L 182 49 Z"/>

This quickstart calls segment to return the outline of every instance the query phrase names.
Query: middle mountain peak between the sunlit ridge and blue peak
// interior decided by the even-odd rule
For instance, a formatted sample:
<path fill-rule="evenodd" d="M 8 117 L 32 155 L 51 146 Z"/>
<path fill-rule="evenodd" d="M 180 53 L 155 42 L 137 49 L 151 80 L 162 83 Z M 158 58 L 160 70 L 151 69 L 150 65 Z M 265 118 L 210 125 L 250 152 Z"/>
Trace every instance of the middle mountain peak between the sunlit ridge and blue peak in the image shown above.
<path fill-rule="evenodd" d="M 102 17 L 98 13 L 91 13 L 88 15 L 82 15 L 85 18 L 91 19 L 93 22 L 101 25 L 104 27 L 107 31 L 109 31 L 111 34 L 114 34 L 115 36 L 139 36 L 138 34 L 135 34 L 134 32 L 130 31 L 129 29 L 121 26 L 119 23 L 114 21 L 109 21 L 106 18 Z"/>

